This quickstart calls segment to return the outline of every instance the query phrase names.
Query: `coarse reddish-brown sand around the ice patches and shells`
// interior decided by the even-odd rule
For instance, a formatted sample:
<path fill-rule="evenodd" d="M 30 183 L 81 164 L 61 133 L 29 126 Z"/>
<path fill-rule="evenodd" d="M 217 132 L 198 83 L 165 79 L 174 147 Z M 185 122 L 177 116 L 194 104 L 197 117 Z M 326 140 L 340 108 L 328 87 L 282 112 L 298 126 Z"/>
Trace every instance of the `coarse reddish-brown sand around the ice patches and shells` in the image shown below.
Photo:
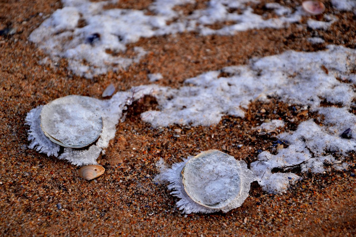
<path fill-rule="evenodd" d="M 138 9 L 146 6 L 137 4 Z M 131 5 L 135 1 L 120 7 Z M 325 5 L 326 12 L 333 11 L 328 1 Z M 254 6 L 256 12 L 261 6 Z M 253 57 L 289 49 L 311 52 L 328 44 L 355 48 L 354 14 L 333 12 L 339 21 L 326 31 L 293 24 L 234 36 L 203 37 L 191 32 L 141 39 L 127 50 L 128 55 L 135 46 L 147 50 L 140 63 L 87 80 L 72 75 L 65 59 L 52 66 L 40 65 L 38 61 L 46 55 L 28 41 L 28 35 L 43 21 L 39 13 L 46 16 L 60 7 L 53 0 L 0 2 L 0 29 L 15 29 L 15 34 L 0 36 L 1 236 L 356 235 L 354 153 L 345 158 L 352 164 L 347 171 L 336 172 L 331 166 L 318 175 L 295 170 L 303 180 L 282 195 L 267 194 L 254 182 L 244 204 L 225 214 L 181 214 L 166 185 L 153 180 L 159 172 L 155 165 L 159 158 L 171 165 L 224 146 L 226 153 L 250 164 L 257 160 L 258 150 L 273 153 L 280 131 L 258 136 L 254 127 L 261 119 L 283 119 L 287 126 L 282 131 L 292 131 L 304 120 L 320 119 L 313 113 L 297 116 L 292 107 L 303 105 L 273 98 L 268 103 L 251 103 L 244 119 L 226 116 L 216 126 L 153 129 L 140 119 L 141 112 L 157 109 L 155 99 L 147 96 L 127 109 L 125 122 L 117 125 L 115 138 L 98 159 L 105 173 L 89 182 L 78 177 L 79 167 L 28 149 L 28 126 L 24 125 L 26 113 L 40 104 L 71 94 L 100 98 L 110 83 L 117 90 L 150 84 L 149 73 L 163 75 L 157 84 L 179 87 L 185 79 L 205 71 L 246 64 Z M 322 36 L 325 43 L 310 44 L 307 38 L 312 36 Z M 262 108 L 266 113 L 258 113 Z M 293 123 L 291 118 L 296 118 Z M 174 131 L 178 128 L 180 133 Z M 244 146 L 238 148 L 239 144 Z"/>

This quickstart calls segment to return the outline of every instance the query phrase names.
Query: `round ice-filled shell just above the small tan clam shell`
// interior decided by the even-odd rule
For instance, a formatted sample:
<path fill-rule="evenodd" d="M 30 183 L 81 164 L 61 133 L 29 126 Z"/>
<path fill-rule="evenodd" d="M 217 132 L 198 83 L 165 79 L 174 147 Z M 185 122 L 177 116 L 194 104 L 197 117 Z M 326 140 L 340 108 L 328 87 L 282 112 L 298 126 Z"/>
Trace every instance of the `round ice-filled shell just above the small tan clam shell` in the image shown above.
<path fill-rule="evenodd" d="M 43 106 L 41 128 L 54 143 L 81 148 L 95 142 L 102 130 L 99 102 L 87 96 L 69 95 Z"/>

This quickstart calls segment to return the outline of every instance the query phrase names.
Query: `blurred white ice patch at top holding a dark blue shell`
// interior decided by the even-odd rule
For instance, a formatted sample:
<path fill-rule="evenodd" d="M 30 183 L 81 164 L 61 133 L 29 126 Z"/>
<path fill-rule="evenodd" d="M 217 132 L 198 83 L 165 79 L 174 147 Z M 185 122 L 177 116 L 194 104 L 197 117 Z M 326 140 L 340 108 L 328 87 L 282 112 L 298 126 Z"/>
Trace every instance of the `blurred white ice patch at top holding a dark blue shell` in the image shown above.
<path fill-rule="evenodd" d="M 117 54 L 125 52 L 127 44 L 135 43 L 141 37 L 187 31 L 198 31 L 203 35 L 231 35 L 253 28 L 283 28 L 289 23 L 299 22 L 305 14 L 300 6 L 292 13 L 292 9 L 274 3 L 267 4 L 267 7 L 275 11 L 278 18 L 263 20 L 246 5 L 258 2 L 256 0 L 211 0 L 205 9 L 195 10 L 189 16 L 173 10 L 174 6 L 194 2 L 156 0 L 148 7 L 153 15 L 146 15 L 147 10 L 105 10 L 106 5 L 117 4 L 116 0 L 62 0 L 63 8 L 43 21 L 31 33 L 30 41 L 45 50 L 54 61 L 67 58 L 68 67 L 75 74 L 91 78 L 108 70 L 125 69 L 138 62 L 145 55 L 142 48 L 135 48 L 136 56 L 133 58 Z M 235 23 L 216 30 L 208 27 L 223 22 Z"/>

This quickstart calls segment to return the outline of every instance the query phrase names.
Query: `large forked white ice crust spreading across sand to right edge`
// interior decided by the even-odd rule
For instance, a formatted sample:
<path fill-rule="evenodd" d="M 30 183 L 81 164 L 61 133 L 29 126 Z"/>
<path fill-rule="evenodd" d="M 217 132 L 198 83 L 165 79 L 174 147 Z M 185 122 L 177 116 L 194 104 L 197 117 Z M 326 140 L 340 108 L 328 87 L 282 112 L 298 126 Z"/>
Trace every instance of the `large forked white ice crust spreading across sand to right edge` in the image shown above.
<path fill-rule="evenodd" d="M 244 117 L 250 101 L 266 100 L 267 96 L 309 107 L 309 111 L 324 115 L 322 126 L 313 120 L 300 123 L 294 133 L 279 135 L 280 140 L 289 144 L 288 148 L 279 150 L 277 155 L 262 152 L 258 161 L 251 164 L 264 190 L 283 192 L 300 179 L 288 169 L 299 166 L 302 172 L 322 173 L 324 162 L 335 161 L 331 153 L 346 155 L 355 150 L 356 138 L 341 138 L 346 129 L 356 129 L 356 116 L 349 112 L 355 106 L 352 101 L 356 96 L 356 75 L 350 72 L 355 63 L 356 50 L 331 45 L 325 51 L 288 51 L 251 60 L 247 66 L 210 71 L 186 80 L 191 86 L 178 89 L 157 85 L 137 87 L 140 93 L 155 96 L 160 109 L 146 111 L 141 118 L 153 126 L 208 126 L 219 123 L 224 114 Z M 219 77 L 220 72 L 229 76 Z M 322 107 L 320 103 L 324 100 L 343 107 Z M 283 125 L 274 123 L 271 127 L 265 123 L 262 128 Z"/>

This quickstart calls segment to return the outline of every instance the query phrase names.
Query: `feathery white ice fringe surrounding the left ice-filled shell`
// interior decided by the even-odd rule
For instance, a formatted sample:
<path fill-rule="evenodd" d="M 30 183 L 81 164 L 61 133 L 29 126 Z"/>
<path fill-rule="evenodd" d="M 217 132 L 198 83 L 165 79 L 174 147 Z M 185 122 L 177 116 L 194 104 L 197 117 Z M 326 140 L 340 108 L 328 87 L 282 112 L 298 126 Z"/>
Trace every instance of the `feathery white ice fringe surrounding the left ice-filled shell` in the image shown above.
<path fill-rule="evenodd" d="M 64 152 L 58 157 L 61 160 L 68 160 L 73 165 L 95 165 L 96 159 L 100 153 L 105 153 L 105 148 L 109 145 L 109 141 L 114 138 L 116 124 L 122 116 L 122 110 L 126 109 L 126 105 L 130 104 L 132 92 L 117 92 L 111 99 L 99 100 L 91 98 L 95 101 L 93 110 L 100 110 L 103 119 L 103 130 L 99 139 L 94 145 L 85 147 L 84 150 L 64 148 Z M 58 156 L 59 145 L 49 140 L 43 133 L 40 127 L 40 113 L 43 106 L 38 106 L 27 113 L 26 124 L 30 125 L 28 132 L 28 140 L 31 144 L 28 146 L 31 149 L 36 149 L 41 153 L 46 153 L 47 156 Z M 88 109 L 88 108 L 87 108 Z"/>

